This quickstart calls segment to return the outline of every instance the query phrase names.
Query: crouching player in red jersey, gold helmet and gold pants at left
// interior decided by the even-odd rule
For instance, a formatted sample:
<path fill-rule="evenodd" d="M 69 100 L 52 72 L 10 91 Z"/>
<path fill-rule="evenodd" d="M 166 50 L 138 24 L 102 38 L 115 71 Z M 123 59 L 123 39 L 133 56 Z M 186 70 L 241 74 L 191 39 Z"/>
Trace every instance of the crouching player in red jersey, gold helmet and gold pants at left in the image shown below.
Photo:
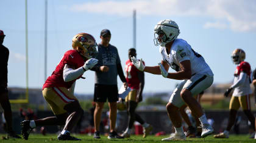
<path fill-rule="evenodd" d="M 43 85 L 43 97 L 55 116 L 21 122 L 21 133 L 26 140 L 30 131 L 37 126 L 65 125 L 57 139 L 80 141 L 70 136 L 70 131 L 84 113 L 74 96 L 74 86 L 76 79 L 98 63 L 98 59 L 93 58 L 97 54 L 97 44 L 93 36 L 87 33 L 78 33 L 72 42 L 73 50 L 64 54 Z"/>

